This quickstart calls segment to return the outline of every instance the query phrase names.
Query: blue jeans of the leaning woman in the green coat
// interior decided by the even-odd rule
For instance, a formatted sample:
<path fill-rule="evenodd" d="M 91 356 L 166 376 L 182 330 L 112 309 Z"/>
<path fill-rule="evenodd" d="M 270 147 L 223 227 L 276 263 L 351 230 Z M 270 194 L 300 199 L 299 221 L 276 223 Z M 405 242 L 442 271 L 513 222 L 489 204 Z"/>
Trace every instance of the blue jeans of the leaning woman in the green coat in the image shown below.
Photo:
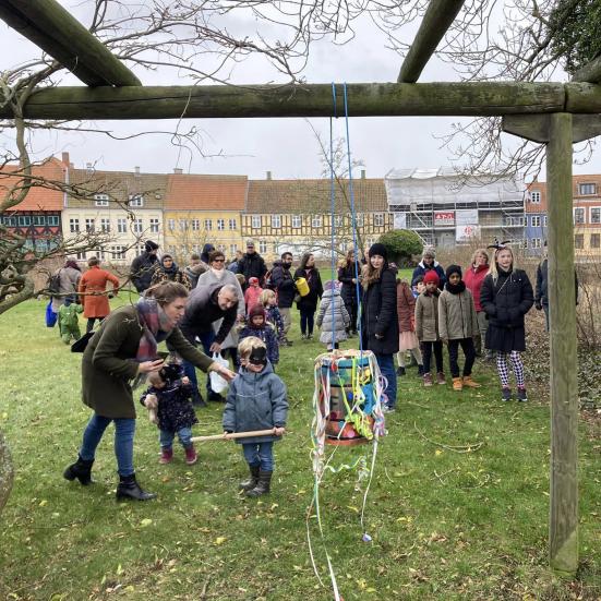
<path fill-rule="evenodd" d="M 117 457 L 117 472 L 119 476 L 132 476 L 133 469 L 133 435 L 135 420 L 131 418 L 103 418 L 97 413 L 92 416 L 84 431 L 84 438 L 80 456 L 92 461 L 96 455 L 96 447 L 103 438 L 108 424 L 115 422 L 115 456 Z"/>

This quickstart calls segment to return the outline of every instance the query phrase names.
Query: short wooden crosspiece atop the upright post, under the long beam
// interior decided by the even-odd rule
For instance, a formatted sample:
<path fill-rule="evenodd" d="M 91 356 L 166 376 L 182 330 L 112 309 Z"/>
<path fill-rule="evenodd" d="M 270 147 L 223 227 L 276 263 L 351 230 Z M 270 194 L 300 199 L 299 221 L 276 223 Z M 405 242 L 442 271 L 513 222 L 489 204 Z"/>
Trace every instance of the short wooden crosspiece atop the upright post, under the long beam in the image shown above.
<path fill-rule="evenodd" d="M 550 140 L 551 115 L 505 115 L 502 129 L 506 133 L 525 137 L 531 142 L 545 143 Z M 572 118 L 572 142 L 582 142 L 601 135 L 601 115 L 574 115 Z"/>

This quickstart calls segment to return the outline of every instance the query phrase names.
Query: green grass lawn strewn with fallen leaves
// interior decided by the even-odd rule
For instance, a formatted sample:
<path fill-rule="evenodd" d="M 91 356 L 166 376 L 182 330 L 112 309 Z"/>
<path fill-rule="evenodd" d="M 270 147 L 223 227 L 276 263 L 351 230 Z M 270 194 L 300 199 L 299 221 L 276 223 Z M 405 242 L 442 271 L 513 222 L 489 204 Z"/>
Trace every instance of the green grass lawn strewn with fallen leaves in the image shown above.
<path fill-rule="evenodd" d="M 141 411 L 137 476 L 159 496 L 118 504 L 112 428 L 98 448 L 95 485 L 61 476 L 89 410 L 80 400 L 81 356 L 45 327 L 44 309 L 28 301 L 0 317 L 0 426 L 15 464 L 0 516 L 0 599 L 333 599 L 314 519 L 325 587 L 305 536 L 313 358 L 323 347 L 299 339 L 298 314 L 295 346 L 283 349 L 278 366 L 289 433 L 276 445 L 272 494 L 238 495 L 247 470 L 233 443 L 205 443 L 193 467 L 177 448 L 173 464 L 160 466 L 156 426 Z M 399 382 L 368 497 L 372 542 L 361 540 L 357 472 L 324 479 L 325 544 L 346 601 L 601 598 L 598 426 L 580 428 L 581 566 L 574 580 L 555 579 L 546 557 L 548 399 L 504 404 L 490 368 L 478 363 L 474 376 L 484 386 L 461 394 L 449 385 L 424 390 L 414 370 Z M 221 409 L 201 409 L 195 433 L 220 433 Z M 339 448 L 334 465 L 365 453 Z"/>

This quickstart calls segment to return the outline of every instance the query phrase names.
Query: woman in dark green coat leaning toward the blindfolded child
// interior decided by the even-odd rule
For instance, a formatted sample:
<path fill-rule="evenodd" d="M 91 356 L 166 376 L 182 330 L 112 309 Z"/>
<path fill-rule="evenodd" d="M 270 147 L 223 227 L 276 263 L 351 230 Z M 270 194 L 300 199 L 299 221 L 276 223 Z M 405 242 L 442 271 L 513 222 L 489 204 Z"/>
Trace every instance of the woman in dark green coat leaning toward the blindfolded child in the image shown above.
<path fill-rule="evenodd" d="M 170 348 L 205 372 L 217 371 L 227 380 L 236 375 L 194 348 L 177 327 L 187 301 L 188 290 L 181 284 L 158 284 L 148 288 L 135 305 L 113 311 L 92 337 L 83 356 L 82 394 L 94 414 L 84 431 L 77 460 L 67 468 L 64 478 L 76 478 L 84 485 L 92 482 L 96 447 L 113 421 L 119 473 L 117 498 L 146 501 L 156 496 L 143 491 L 135 480 L 135 408 L 131 381 L 163 368 L 163 359 L 157 359 L 157 345 L 163 340 L 169 340 Z"/>

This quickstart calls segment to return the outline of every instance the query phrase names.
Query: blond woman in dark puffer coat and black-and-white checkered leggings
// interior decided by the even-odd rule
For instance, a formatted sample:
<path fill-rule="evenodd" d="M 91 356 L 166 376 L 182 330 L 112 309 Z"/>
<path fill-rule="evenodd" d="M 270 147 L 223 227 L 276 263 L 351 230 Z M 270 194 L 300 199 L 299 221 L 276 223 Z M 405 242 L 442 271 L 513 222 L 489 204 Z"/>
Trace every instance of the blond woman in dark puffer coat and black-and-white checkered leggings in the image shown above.
<path fill-rule="evenodd" d="M 534 303 L 532 285 L 522 269 L 514 267 L 508 247 L 497 248 L 490 274 L 482 283 L 480 304 L 489 318 L 486 348 L 496 350 L 496 366 L 503 387 L 503 400 L 512 399 L 507 354 L 517 381 L 517 399 L 528 400 L 520 352 L 526 350 L 524 316 Z"/>

